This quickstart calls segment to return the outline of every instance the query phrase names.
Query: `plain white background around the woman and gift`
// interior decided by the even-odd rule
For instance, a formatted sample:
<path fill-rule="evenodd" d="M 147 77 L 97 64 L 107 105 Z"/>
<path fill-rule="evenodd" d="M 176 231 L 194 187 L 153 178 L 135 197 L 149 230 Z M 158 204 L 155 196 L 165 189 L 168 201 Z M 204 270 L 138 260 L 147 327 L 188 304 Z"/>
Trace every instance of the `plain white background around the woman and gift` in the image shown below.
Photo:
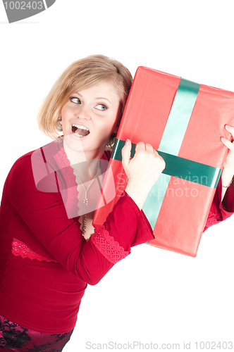
<path fill-rule="evenodd" d="M 50 142 L 37 127 L 39 104 L 78 58 L 105 54 L 133 75 L 144 65 L 234 91 L 232 1 L 56 0 L 12 24 L 0 7 L 1 188 L 18 157 Z M 87 341 L 179 343 L 180 350 L 191 341 L 192 351 L 196 341 L 234 344 L 233 227 L 231 217 L 207 230 L 197 258 L 145 244 L 133 248 L 87 288 L 63 351 L 86 351 Z"/>

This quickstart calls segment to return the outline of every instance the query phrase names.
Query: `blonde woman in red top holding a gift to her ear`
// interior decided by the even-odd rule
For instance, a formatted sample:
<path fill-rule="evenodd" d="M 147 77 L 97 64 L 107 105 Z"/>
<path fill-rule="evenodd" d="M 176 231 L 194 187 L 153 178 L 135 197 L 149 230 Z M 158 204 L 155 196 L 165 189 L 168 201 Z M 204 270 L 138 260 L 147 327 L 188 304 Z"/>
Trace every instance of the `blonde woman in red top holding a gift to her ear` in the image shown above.
<path fill-rule="evenodd" d="M 106 56 L 88 56 L 70 65 L 38 118 L 43 132 L 56 137 L 63 131 L 63 137 L 19 158 L 8 174 L 0 213 L 0 348 L 5 351 L 61 351 L 75 327 L 87 284 L 97 284 L 128 256 L 131 246 L 154 237 L 141 209 L 165 163 L 142 142 L 131 159 L 126 141 L 125 194 L 104 225 L 92 227 L 131 82 L 128 69 Z M 223 143 L 233 149 L 226 139 Z M 233 169 L 230 151 L 224 185 Z M 149 182 L 144 184 L 146 176 Z M 229 187 L 227 206 L 232 192 Z M 213 209 L 213 218 L 230 215 L 219 200 L 212 206 L 219 212 L 214 216 Z"/>

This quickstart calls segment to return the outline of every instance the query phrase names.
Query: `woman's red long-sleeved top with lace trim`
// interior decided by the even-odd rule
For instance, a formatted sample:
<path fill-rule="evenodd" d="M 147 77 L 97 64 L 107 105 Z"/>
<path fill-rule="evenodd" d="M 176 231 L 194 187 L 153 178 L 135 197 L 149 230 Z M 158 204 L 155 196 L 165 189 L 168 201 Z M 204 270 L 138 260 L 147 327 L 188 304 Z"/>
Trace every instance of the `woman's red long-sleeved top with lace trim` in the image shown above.
<path fill-rule="evenodd" d="M 101 159 L 109 160 L 109 153 Z M 69 332 L 87 284 L 97 284 L 131 246 L 154 237 L 143 211 L 125 194 L 104 226 L 85 241 L 74 216 L 77 194 L 61 143 L 25 154 L 6 179 L 0 208 L 0 315 L 27 329 Z M 223 202 L 229 212 L 220 198 L 221 184 L 207 226 L 234 210 L 233 187 Z"/>

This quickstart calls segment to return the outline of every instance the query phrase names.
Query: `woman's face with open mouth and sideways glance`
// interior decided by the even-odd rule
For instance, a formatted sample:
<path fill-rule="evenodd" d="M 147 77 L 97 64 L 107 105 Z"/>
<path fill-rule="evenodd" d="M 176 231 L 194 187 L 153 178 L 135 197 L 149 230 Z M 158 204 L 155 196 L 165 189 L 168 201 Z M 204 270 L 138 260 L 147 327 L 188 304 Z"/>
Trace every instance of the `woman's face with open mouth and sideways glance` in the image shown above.
<path fill-rule="evenodd" d="M 111 82 L 71 94 L 61 110 L 66 145 L 76 151 L 103 153 L 112 132 L 118 130 L 119 96 Z"/>

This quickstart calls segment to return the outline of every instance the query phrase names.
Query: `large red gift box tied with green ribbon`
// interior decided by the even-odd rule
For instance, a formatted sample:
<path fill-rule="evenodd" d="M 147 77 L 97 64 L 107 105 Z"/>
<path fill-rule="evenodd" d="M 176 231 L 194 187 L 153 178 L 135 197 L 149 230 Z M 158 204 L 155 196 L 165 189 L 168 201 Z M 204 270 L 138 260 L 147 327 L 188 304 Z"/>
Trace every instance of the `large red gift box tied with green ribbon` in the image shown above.
<path fill-rule="evenodd" d="M 142 208 L 154 229 L 149 244 L 196 256 L 227 154 L 221 136 L 230 139 L 224 126 L 233 123 L 233 92 L 137 68 L 103 185 L 111 189 L 114 177 L 116 196 L 96 210 L 93 224 L 102 225 L 123 195 L 125 140 L 132 156 L 138 142 L 149 143 L 166 162 Z"/>

